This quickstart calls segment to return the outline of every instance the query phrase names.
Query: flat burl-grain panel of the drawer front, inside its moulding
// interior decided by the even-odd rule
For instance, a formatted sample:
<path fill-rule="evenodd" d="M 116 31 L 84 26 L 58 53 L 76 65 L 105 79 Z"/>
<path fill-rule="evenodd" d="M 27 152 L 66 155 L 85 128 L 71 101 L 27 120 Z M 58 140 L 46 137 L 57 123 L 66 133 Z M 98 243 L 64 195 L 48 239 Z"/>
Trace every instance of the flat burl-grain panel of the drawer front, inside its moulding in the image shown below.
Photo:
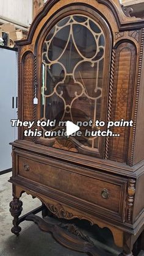
<path fill-rule="evenodd" d="M 27 170 L 27 166 L 29 169 Z M 72 196 L 87 200 L 95 205 L 118 212 L 120 205 L 121 186 L 85 177 L 68 170 L 39 163 L 32 159 L 18 157 L 19 175 L 30 178 L 42 185 L 58 189 Z M 81 184 L 81 189 L 79 185 Z M 104 199 L 101 192 L 106 188 L 109 198 Z"/>

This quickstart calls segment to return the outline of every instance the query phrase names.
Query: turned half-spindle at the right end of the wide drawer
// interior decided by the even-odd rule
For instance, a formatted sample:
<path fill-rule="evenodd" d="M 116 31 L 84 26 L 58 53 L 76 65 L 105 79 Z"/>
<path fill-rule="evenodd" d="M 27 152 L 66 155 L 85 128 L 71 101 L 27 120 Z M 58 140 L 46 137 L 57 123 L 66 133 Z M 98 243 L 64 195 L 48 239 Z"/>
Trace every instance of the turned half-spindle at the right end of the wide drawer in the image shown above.
<path fill-rule="evenodd" d="M 128 222 L 132 222 L 132 213 L 133 213 L 134 195 L 135 195 L 135 182 L 136 181 L 134 179 L 129 179 L 129 183 L 128 183 L 128 200 L 127 200 Z"/>

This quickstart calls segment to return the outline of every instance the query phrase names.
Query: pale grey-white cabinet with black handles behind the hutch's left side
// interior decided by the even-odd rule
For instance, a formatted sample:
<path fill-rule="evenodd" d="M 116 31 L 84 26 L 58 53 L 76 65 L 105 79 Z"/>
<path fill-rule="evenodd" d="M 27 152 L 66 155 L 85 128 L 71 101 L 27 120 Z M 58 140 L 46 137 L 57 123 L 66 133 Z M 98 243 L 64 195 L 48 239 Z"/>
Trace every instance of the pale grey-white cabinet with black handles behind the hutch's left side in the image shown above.
<path fill-rule="evenodd" d="M 0 172 L 12 168 L 10 142 L 17 138 L 17 128 L 11 119 L 17 119 L 17 53 L 0 48 Z"/>

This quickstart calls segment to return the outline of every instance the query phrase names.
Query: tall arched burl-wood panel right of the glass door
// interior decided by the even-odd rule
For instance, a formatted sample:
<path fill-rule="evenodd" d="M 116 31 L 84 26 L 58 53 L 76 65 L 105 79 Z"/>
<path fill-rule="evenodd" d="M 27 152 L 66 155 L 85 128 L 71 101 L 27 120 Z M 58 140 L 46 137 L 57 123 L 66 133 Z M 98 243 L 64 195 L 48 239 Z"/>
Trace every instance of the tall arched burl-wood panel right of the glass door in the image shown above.
<path fill-rule="evenodd" d="M 135 76 L 135 46 L 121 43 L 116 49 L 113 81 L 112 120 L 131 120 L 132 92 Z M 129 127 L 114 127 L 120 137 L 110 138 L 110 159 L 127 161 Z"/>

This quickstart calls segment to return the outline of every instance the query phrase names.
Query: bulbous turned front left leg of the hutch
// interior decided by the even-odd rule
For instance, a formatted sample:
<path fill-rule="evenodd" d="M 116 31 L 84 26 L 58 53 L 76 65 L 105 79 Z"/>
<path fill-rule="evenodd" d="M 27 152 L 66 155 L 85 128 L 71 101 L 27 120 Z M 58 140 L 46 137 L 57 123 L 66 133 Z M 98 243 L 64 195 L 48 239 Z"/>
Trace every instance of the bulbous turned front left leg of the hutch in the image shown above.
<path fill-rule="evenodd" d="M 16 236 L 20 235 L 21 227 L 19 226 L 18 217 L 21 214 L 23 203 L 17 197 L 13 197 L 12 202 L 10 202 L 10 213 L 13 216 L 13 227 L 11 229 L 12 233 Z"/>

